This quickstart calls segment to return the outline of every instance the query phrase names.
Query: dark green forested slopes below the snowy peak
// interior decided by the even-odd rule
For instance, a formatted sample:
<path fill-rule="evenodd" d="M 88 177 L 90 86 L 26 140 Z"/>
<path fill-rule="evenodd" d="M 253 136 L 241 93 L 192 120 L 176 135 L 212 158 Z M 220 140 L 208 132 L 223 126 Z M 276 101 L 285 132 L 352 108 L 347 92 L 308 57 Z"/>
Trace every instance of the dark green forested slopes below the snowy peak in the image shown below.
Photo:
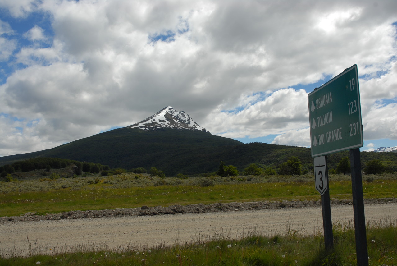
<path fill-rule="evenodd" d="M 379 160 L 384 172 L 397 172 L 397 153 L 395 152 L 360 152 L 362 169 L 372 160 Z M 328 155 L 328 167 L 337 169 L 342 158 L 349 156 L 349 151 Z M 301 163 L 301 173 L 313 169 L 310 148 L 273 145 L 267 143 L 243 144 L 239 141 L 220 136 L 186 129 L 161 129 L 145 131 L 141 129 L 120 128 L 80 139 L 52 149 L 0 157 L 0 165 L 13 166 L 14 170 L 25 171 L 36 164 L 33 158 L 42 158 L 37 162 L 37 169 L 61 167 L 73 161 L 77 172 L 98 172 L 110 169 L 145 169 L 161 170 L 167 176 L 198 175 L 215 173 L 220 162 L 233 166 L 239 172 L 251 164 L 263 170 L 280 167 L 296 157 Z M 52 158 L 52 159 L 51 159 Z M 65 159 L 66 161 L 55 160 Z M 21 162 L 27 160 L 25 162 Z M 69 160 L 69 161 L 67 161 Z M 89 171 L 83 170 L 83 164 L 93 164 Z M 8 167 L 8 166 L 7 166 Z M 105 167 L 105 169 L 104 169 Z M 0 169 L 1 170 L 1 169 Z M 86 170 L 86 169 L 85 169 Z M 4 172 L 3 171 L 0 171 Z"/>

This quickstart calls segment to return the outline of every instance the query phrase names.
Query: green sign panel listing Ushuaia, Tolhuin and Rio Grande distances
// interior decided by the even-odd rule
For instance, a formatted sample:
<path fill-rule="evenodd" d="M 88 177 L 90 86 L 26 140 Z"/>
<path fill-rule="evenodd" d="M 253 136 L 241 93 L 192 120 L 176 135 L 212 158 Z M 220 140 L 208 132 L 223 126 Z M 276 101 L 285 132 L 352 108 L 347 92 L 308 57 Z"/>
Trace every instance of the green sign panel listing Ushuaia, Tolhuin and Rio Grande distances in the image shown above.
<path fill-rule="evenodd" d="M 363 146 L 357 65 L 309 93 L 312 157 Z"/>

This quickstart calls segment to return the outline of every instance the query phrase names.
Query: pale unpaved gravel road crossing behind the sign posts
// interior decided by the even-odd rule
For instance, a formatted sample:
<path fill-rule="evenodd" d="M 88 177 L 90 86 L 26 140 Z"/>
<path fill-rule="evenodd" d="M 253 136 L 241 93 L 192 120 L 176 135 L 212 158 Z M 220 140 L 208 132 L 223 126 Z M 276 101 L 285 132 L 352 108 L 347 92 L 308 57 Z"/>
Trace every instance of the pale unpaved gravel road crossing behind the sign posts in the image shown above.
<path fill-rule="evenodd" d="M 396 203 L 365 204 L 364 208 L 367 222 L 397 219 Z M 331 213 L 333 222 L 353 220 L 353 206 L 349 204 L 331 206 Z M 308 234 L 322 230 L 321 207 L 4 222 L 0 224 L 0 255 L 25 256 L 30 247 L 40 253 L 94 247 L 143 249 L 190 243 L 219 233 L 231 239 L 254 230 L 274 235 L 287 228 Z"/>

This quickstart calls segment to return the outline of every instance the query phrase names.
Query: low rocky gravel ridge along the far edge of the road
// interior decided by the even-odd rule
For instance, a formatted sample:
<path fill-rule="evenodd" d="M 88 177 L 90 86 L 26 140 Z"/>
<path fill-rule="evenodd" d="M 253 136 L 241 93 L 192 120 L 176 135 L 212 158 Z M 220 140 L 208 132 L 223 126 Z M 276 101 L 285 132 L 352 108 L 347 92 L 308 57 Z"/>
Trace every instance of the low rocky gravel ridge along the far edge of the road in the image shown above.
<path fill-rule="evenodd" d="M 397 198 L 383 199 L 364 199 L 364 204 L 397 203 Z M 331 205 L 352 205 L 352 200 L 331 199 Z M 184 213 L 206 213 L 206 212 L 229 212 L 243 210 L 267 210 L 277 208 L 305 208 L 321 206 L 320 200 L 285 200 L 285 201 L 259 201 L 259 202 L 230 202 L 214 204 L 191 204 L 173 205 L 168 207 L 148 207 L 138 208 L 116 208 L 114 210 L 72 210 L 56 214 L 37 215 L 35 212 L 28 212 L 21 216 L 0 217 L 0 223 L 25 222 L 39 220 L 61 220 L 61 219 L 82 219 L 96 217 L 122 217 L 122 216 L 144 216 L 161 214 L 184 214 Z"/>

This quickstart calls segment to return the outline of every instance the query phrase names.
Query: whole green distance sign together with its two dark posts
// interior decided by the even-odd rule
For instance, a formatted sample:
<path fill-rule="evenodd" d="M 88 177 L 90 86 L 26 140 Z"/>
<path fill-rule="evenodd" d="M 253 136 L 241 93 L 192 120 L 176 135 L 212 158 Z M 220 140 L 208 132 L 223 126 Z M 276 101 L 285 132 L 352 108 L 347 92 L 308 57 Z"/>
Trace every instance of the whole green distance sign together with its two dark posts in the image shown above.
<path fill-rule="evenodd" d="M 314 89 L 307 98 L 312 157 L 350 150 L 357 265 L 368 266 L 359 149 L 364 143 L 357 65 L 345 69 L 320 88 Z M 324 213 L 330 208 L 329 189 L 328 183 L 326 189 L 322 184 L 324 167 L 319 165 L 316 169 L 316 158 L 314 160 L 314 170 L 318 171 L 315 173 L 316 189 L 322 195 L 324 239 L 326 239 L 330 237 L 326 235 L 328 222 L 324 218 Z M 326 166 L 325 169 L 327 170 Z M 324 197 L 326 194 L 328 194 L 328 202 Z"/>

